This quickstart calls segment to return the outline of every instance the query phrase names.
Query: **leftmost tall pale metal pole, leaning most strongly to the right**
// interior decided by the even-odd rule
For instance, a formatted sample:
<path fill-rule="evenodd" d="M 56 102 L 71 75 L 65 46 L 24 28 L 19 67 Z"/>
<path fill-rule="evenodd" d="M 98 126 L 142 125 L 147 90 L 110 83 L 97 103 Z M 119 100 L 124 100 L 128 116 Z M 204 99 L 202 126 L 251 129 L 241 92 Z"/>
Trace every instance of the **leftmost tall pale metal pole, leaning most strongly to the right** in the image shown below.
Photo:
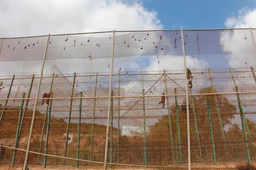
<path fill-rule="evenodd" d="M 40 85 L 41 85 L 42 75 L 43 75 L 43 71 L 44 71 L 44 65 L 45 65 L 45 59 L 46 59 L 46 53 L 47 53 L 47 48 L 48 48 L 48 44 L 49 44 L 49 39 L 50 39 L 50 34 L 48 34 L 48 38 L 47 38 L 47 41 L 46 41 L 45 54 L 44 54 L 42 68 L 41 68 L 41 74 L 40 74 L 40 78 L 39 78 L 39 83 L 38 83 L 38 87 L 37 87 L 36 97 L 35 97 L 35 104 L 34 104 L 32 121 L 31 121 L 31 126 L 30 126 L 30 131 L 29 131 L 28 146 L 27 146 L 27 151 L 26 151 L 26 156 L 25 156 L 25 162 L 24 162 L 23 170 L 26 170 L 27 163 L 28 163 L 28 154 L 29 154 L 29 148 L 30 148 L 30 141 L 31 141 L 32 130 L 33 130 L 33 125 L 34 125 L 34 121 L 35 121 L 36 104 L 37 104 L 37 100 L 38 100 L 38 96 L 39 96 Z"/>

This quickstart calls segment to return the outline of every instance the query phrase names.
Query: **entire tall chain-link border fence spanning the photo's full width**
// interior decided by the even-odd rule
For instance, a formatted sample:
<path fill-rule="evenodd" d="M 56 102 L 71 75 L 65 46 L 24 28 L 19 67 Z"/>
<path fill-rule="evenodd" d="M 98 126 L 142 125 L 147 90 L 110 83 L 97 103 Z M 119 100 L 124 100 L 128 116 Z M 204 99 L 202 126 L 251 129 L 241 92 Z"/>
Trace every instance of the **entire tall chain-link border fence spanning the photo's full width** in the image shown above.
<path fill-rule="evenodd" d="M 0 166 L 256 162 L 256 29 L 0 39 Z"/>

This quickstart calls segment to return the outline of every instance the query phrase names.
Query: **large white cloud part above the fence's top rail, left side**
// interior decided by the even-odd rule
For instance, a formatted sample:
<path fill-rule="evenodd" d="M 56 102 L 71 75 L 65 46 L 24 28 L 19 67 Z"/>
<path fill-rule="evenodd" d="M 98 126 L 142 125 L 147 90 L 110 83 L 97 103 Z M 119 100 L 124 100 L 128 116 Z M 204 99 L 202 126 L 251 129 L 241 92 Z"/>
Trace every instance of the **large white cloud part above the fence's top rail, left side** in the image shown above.
<path fill-rule="evenodd" d="M 0 1 L 0 37 L 162 29 L 156 11 L 121 0 Z"/>

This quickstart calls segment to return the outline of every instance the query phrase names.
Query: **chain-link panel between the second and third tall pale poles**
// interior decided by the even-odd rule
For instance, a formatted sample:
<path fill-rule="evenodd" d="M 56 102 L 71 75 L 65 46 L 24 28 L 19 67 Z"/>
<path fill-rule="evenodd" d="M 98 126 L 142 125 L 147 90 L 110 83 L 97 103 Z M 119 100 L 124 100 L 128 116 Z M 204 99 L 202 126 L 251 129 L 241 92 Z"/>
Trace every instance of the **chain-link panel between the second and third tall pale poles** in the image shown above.
<path fill-rule="evenodd" d="M 113 77 L 118 84 L 112 86 L 119 88 L 113 95 L 120 97 L 113 97 L 112 129 L 120 132 L 110 136 L 109 167 L 187 166 L 187 121 L 179 113 L 184 96 L 161 97 L 185 94 L 180 37 L 180 30 L 115 34 L 113 68 L 119 72 Z"/>

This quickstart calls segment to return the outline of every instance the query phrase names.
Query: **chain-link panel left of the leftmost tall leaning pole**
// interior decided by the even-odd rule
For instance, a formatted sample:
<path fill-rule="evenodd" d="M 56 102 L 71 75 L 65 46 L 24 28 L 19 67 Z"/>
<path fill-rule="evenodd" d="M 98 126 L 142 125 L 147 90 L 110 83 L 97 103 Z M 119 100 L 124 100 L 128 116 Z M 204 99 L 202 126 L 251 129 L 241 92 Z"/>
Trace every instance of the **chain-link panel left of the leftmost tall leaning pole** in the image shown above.
<path fill-rule="evenodd" d="M 24 163 L 46 36 L 2 39 L 1 163 Z M 35 75 L 36 74 L 36 75 Z M 8 76 L 7 76 L 8 75 Z M 11 76 L 10 76 L 11 75 Z"/>

